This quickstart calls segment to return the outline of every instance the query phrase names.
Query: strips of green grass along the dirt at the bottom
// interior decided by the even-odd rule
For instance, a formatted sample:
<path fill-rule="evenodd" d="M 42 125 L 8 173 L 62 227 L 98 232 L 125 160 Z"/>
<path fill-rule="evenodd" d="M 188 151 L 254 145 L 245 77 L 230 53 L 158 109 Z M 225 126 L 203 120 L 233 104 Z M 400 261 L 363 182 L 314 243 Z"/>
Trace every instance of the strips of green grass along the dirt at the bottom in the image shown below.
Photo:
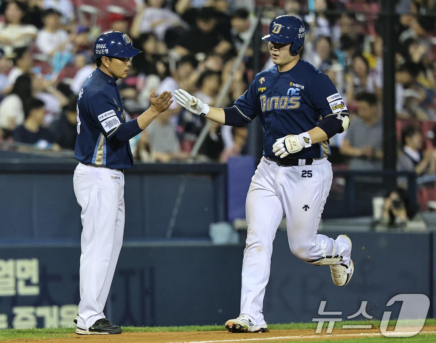
<path fill-rule="evenodd" d="M 324 329 L 327 328 L 328 323 L 324 323 Z M 374 327 L 380 327 L 380 321 L 344 321 L 336 322 L 334 327 L 341 328 L 342 325 L 368 325 L 372 324 Z M 389 326 L 396 324 L 396 320 L 389 322 Z M 436 319 L 427 319 L 427 326 L 436 326 Z M 315 329 L 317 323 L 289 323 L 289 324 L 269 324 L 270 330 L 292 330 L 292 329 Z M 64 336 L 65 334 L 74 333 L 74 328 L 45 328 L 45 329 L 4 329 L 0 330 L 0 341 L 7 340 L 17 340 L 17 339 L 54 339 Z M 189 331 L 224 331 L 224 326 L 222 325 L 208 325 L 208 326 L 157 326 L 157 327 L 133 327 L 126 326 L 123 327 L 124 333 L 143 333 L 143 332 L 189 332 Z M 333 331 L 334 333 L 334 331 Z M 429 336 L 429 337 L 426 337 Z M 253 338 L 253 337 L 250 337 Z M 435 341 L 433 335 L 418 335 L 410 338 L 392 338 L 392 337 L 362 337 L 358 339 L 347 340 L 347 343 L 351 342 L 363 342 L 363 340 L 368 340 L 371 343 L 386 342 L 386 343 L 396 343 L 399 340 L 414 340 L 417 342 L 430 342 Z M 388 340 L 388 341 L 386 341 Z M 343 340 L 341 340 L 343 341 Z M 297 341 L 293 340 L 292 343 Z M 298 342 L 308 343 L 310 340 L 300 340 Z M 319 342 L 319 340 L 318 340 Z M 330 340 L 329 343 L 339 342 Z"/>

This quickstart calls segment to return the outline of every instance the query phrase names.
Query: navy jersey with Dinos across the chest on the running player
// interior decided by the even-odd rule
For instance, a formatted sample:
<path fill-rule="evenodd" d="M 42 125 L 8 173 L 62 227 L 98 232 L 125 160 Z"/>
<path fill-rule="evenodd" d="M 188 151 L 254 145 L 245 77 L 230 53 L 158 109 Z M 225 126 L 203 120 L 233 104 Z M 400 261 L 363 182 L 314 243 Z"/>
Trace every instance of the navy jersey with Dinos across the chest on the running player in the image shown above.
<path fill-rule="evenodd" d="M 307 132 L 332 113 L 348 115 L 347 106 L 330 78 L 303 60 L 289 71 L 279 72 L 276 65 L 261 71 L 250 88 L 235 101 L 235 107 L 247 122 L 259 115 L 264 155 L 272 159 L 276 159 L 272 153 L 276 139 Z M 328 155 L 327 140 L 289 157 L 306 159 Z"/>

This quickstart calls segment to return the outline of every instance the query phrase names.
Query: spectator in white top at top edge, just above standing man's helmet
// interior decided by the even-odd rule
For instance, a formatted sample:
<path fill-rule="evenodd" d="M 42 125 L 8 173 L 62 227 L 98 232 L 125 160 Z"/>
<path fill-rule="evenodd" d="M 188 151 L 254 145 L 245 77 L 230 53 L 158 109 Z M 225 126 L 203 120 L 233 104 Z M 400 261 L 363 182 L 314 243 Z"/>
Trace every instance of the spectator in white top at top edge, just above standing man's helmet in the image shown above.
<path fill-rule="evenodd" d="M 164 7 L 164 0 L 146 0 L 143 8 L 138 11 L 133 20 L 130 34 L 138 38 L 140 34 L 153 32 L 163 41 L 165 32 L 176 26 L 188 28 L 188 25 L 176 13 Z"/>

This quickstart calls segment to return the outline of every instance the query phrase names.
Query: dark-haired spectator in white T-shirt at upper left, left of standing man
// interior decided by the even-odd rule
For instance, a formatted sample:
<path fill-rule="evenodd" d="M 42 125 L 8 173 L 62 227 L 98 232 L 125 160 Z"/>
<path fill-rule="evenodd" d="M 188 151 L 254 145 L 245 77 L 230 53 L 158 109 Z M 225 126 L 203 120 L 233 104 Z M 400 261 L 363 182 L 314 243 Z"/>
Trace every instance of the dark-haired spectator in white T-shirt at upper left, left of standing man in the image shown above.
<path fill-rule="evenodd" d="M 70 44 L 71 38 L 68 33 L 61 30 L 61 13 L 57 10 L 49 8 L 42 14 L 44 27 L 38 31 L 36 37 L 36 46 L 39 51 L 48 57 L 53 57 L 56 51 L 64 51 Z"/>

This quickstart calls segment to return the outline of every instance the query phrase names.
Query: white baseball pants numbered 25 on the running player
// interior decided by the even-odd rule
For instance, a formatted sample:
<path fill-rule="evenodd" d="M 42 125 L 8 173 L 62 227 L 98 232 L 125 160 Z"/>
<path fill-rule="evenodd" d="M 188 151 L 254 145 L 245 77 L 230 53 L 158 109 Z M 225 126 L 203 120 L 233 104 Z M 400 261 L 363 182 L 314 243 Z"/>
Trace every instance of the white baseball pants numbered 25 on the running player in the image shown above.
<path fill-rule="evenodd" d="M 351 253 L 343 242 L 317 234 L 332 178 L 327 158 L 313 160 L 311 166 L 283 167 L 262 157 L 257 166 L 245 202 L 248 229 L 242 261 L 240 313 L 255 325 L 265 323 L 262 308 L 272 242 L 283 215 L 286 215 L 289 246 L 297 258 L 316 260 L 323 257 L 324 249 L 331 255 L 338 245 L 341 251 Z M 349 261 L 348 256 L 341 263 Z"/>

